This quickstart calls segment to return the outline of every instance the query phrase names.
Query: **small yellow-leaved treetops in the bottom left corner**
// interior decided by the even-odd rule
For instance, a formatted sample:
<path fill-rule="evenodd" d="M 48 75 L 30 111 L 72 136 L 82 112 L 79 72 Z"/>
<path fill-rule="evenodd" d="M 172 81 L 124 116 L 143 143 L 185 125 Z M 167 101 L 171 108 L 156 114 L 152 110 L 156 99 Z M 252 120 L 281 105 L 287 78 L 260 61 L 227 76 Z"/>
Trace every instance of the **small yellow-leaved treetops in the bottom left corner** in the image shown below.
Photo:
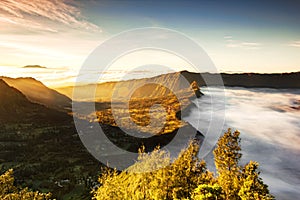
<path fill-rule="evenodd" d="M 50 193 L 32 192 L 28 188 L 15 187 L 12 169 L 0 176 L 0 199 L 2 200 L 46 200 L 50 197 Z"/>

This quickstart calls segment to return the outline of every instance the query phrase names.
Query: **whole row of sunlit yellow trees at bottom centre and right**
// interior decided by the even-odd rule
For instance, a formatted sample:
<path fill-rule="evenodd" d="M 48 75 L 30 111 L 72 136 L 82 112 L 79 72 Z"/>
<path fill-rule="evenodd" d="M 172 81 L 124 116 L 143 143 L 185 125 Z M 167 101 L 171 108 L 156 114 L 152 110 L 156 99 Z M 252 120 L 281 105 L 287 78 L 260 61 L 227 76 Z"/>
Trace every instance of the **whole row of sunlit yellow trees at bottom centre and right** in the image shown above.
<path fill-rule="evenodd" d="M 175 160 L 157 148 L 143 151 L 136 164 L 125 171 L 107 169 L 93 191 L 94 199 L 195 199 L 269 200 L 267 185 L 259 177 L 258 163 L 239 165 L 239 132 L 229 129 L 214 150 L 217 173 L 206 168 L 197 157 L 198 144 L 191 142 Z"/>

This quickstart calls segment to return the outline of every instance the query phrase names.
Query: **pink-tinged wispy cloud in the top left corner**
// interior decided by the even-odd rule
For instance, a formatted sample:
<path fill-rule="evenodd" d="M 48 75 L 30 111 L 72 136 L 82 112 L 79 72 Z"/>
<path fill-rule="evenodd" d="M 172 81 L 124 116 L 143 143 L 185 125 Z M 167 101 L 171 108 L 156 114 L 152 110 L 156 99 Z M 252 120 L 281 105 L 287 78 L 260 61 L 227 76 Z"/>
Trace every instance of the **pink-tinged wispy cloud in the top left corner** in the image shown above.
<path fill-rule="evenodd" d="M 0 26 L 31 31 L 58 32 L 66 26 L 85 31 L 101 31 L 81 13 L 72 0 L 1 0 Z M 16 27 L 17 26 L 17 27 Z"/>

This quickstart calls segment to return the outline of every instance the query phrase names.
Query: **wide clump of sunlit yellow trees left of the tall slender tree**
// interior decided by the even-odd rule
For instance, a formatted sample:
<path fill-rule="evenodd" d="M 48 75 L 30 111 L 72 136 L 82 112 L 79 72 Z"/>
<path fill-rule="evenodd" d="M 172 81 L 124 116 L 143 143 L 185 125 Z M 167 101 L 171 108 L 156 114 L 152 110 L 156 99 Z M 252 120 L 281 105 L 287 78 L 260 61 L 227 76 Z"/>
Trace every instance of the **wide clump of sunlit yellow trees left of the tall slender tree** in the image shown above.
<path fill-rule="evenodd" d="M 204 161 L 197 157 L 198 145 L 182 150 L 171 162 L 169 153 L 156 149 L 140 152 L 138 162 L 123 172 L 109 170 L 94 191 L 94 199 L 184 199 L 190 198 L 200 184 L 213 177 Z"/>

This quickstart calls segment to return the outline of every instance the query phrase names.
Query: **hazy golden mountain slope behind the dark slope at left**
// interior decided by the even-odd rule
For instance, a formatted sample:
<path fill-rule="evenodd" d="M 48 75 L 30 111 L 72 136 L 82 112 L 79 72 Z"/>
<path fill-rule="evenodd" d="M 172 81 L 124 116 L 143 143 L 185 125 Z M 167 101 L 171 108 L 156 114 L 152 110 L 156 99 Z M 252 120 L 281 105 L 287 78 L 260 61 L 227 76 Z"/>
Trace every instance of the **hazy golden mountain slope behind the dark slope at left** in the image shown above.
<path fill-rule="evenodd" d="M 22 92 L 32 102 L 57 110 L 65 111 L 71 108 L 70 98 L 46 87 L 34 78 L 0 77 L 0 79 Z"/>

